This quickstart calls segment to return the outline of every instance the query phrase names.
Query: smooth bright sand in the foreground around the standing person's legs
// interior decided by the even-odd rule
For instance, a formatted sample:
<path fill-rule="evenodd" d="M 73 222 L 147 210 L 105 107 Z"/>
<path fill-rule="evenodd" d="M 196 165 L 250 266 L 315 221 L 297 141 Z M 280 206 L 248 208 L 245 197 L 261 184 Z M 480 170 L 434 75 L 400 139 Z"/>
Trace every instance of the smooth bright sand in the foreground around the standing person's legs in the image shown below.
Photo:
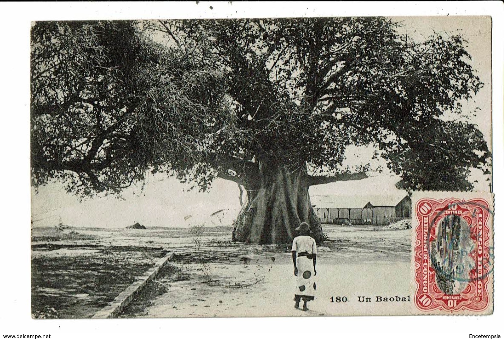
<path fill-rule="evenodd" d="M 287 262 L 287 260 L 282 260 Z M 245 288 L 211 286 L 199 275 L 199 265 L 187 265 L 197 279 L 168 283 L 167 292 L 153 300 L 144 317 L 226 317 L 226 316 L 310 316 L 352 314 L 404 314 L 410 304 L 401 302 L 358 302 L 358 296 L 407 296 L 409 279 L 390 279 L 391 272 L 409 272 L 409 264 L 318 266 L 317 297 L 308 303 L 309 311 L 295 309 L 292 265 L 212 265 L 212 276 L 232 280 L 255 273 L 264 280 Z M 404 277 L 403 277 L 404 278 Z M 253 278 L 254 279 L 254 278 Z M 162 282 L 162 281 L 161 281 Z M 370 293 L 372 291 L 372 293 Z M 347 302 L 331 302 L 331 297 L 347 297 Z M 336 299 L 337 300 L 337 299 Z M 407 313 L 407 312 L 406 312 Z"/>

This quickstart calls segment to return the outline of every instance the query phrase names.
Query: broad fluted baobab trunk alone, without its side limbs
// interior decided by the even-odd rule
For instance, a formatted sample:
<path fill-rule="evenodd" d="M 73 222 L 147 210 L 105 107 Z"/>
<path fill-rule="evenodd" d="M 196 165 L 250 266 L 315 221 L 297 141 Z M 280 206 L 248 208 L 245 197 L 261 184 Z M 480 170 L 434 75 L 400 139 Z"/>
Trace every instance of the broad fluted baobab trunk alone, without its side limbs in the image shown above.
<path fill-rule="evenodd" d="M 321 224 L 311 206 L 310 177 L 305 168 L 259 164 L 254 185 L 247 185 L 247 201 L 242 205 L 233 229 L 233 240 L 249 243 L 288 243 L 298 235 L 303 221 L 311 236 L 324 240 Z"/>

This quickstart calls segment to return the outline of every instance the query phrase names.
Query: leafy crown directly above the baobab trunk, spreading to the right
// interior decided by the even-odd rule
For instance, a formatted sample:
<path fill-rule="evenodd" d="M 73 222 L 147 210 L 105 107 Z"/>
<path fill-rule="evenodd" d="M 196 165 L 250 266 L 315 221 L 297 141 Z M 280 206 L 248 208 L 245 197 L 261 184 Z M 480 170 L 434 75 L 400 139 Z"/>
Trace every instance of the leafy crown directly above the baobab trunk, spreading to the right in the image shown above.
<path fill-rule="evenodd" d="M 226 74 L 233 123 L 222 124 L 231 133 L 215 136 L 221 153 L 307 163 L 334 175 L 346 146 L 371 144 L 402 177 L 402 188 L 471 189 L 470 168 L 488 174 L 488 147 L 475 125 L 444 119 L 446 112 L 461 117 L 463 102 L 483 86 L 466 41 L 433 34 L 415 42 L 397 28 L 384 18 L 158 26 Z"/>

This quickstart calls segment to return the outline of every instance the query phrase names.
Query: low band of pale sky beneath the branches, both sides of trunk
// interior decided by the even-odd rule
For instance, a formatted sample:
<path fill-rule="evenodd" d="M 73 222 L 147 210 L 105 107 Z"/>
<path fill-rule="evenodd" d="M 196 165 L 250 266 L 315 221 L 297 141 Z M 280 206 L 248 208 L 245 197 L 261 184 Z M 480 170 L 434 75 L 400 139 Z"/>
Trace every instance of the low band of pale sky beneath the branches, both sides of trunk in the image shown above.
<path fill-rule="evenodd" d="M 312 186 L 310 196 L 368 195 L 369 192 L 398 192 L 393 175 L 375 175 L 358 182 L 340 182 Z M 150 175 L 140 186 L 115 196 L 98 196 L 80 201 L 53 182 L 32 190 L 34 227 L 56 225 L 59 221 L 73 227 L 124 228 L 135 222 L 146 227 L 190 227 L 195 225 L 230 225 L 240 210 L 237 184 L 216 179 L 207 192 L 181 184 L 162 174 Z M 213 213 L 223 210 L 212 216 Z"/>

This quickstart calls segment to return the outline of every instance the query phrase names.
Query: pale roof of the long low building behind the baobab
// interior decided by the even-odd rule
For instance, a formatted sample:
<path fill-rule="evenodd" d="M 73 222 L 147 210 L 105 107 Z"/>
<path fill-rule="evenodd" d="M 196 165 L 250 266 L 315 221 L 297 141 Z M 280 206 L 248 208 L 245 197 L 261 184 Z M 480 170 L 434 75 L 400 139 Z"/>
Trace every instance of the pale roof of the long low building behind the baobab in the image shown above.
<path fill-rule="evenodd" d="M 311 205 L 316 208 L 363 208 L 368 202 L 373 206 L 395 207 L 407 196 L 406 192 L 369 196 L 313 196 Z"/>

